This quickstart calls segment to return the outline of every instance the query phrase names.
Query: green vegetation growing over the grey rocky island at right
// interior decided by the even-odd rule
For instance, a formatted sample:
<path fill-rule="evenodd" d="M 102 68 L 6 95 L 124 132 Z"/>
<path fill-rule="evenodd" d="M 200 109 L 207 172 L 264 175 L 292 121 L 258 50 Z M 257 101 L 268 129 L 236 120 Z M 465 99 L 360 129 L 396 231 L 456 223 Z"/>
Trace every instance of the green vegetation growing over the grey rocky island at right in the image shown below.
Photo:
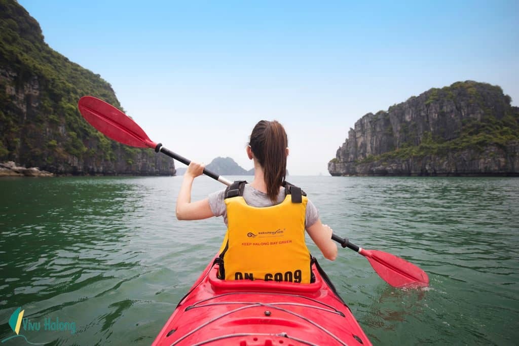
<path fill-rule="evenodd" d="M 367 155 L 356 163 L 445 156 L 466 149 L 483 152 L 490 145 L 504 148 L 519 143 L 519 109 L 510 105 L 510 96 L 504 95 L 499 86 L 474 81 L 456 82 L 449 87 L 430 89 L 422 95 L 425 102 L 412 96 L 405 103 L 391 106 L 388 112 L 398 112 L 399 108 L 402 111 L 409 103 L 423 102 L 426 107 L 435 105 L 438 108 L 436 117 L 441 119 L 450 116 L 445 111 L 446 104 L 454 104 L 456 108 L 457 102 L 465 102 L 474 109 L 474 114 L 463 118 L 456 128 L 443 127 L 436 133 L 427 130 L 420 133 L 414 121 L 402 123 L 405 142 L 394 150 Z M 334 158 L 330 162 L 337 163 L 338 160 Z"/>

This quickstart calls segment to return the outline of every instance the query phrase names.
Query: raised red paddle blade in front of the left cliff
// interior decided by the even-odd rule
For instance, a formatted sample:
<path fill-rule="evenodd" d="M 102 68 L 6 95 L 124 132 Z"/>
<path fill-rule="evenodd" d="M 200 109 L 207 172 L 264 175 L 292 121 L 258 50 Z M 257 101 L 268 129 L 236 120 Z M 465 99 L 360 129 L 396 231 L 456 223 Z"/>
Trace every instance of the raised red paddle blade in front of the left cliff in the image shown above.
<path fill-rule="evenodd" d="M 108 138 L 132 147 L 155 149 L 157 146 L 135 121 L 110 103 L 83 96 L 77 106 L 81 115 Z"/>

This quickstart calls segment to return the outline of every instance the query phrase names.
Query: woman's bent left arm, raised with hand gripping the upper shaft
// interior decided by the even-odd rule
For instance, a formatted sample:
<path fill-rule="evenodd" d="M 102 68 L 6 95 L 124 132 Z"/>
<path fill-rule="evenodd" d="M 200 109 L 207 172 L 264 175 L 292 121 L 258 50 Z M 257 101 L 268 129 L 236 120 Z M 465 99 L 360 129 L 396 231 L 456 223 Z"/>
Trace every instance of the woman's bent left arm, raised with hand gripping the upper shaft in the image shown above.
<path fill-rule="evenodd" d="M 189 163 L 186 173 L 184 173 L 175 208 L 176 218 L 179 220 L 200 220 L 214 216 L 207 198 L 191 203 L 193 181 L 203 173 L 203 167 L 203 164 L 192 161 Z"/>

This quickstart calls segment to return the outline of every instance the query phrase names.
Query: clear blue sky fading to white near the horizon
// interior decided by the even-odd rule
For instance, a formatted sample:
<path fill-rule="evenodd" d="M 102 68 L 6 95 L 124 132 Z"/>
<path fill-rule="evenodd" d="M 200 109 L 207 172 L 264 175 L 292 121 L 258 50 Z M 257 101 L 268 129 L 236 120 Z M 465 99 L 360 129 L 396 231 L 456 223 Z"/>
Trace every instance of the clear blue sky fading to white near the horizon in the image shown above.
<path fill-rule="evenodd" d="M 327 174 L 364 114 L 432 87 L 484 81 L 519 101 L 517 1 L 19 3 L 153 141 L 206 163 L 252 168 L 254 124 L 277 119 L 289 172 Z"/>

